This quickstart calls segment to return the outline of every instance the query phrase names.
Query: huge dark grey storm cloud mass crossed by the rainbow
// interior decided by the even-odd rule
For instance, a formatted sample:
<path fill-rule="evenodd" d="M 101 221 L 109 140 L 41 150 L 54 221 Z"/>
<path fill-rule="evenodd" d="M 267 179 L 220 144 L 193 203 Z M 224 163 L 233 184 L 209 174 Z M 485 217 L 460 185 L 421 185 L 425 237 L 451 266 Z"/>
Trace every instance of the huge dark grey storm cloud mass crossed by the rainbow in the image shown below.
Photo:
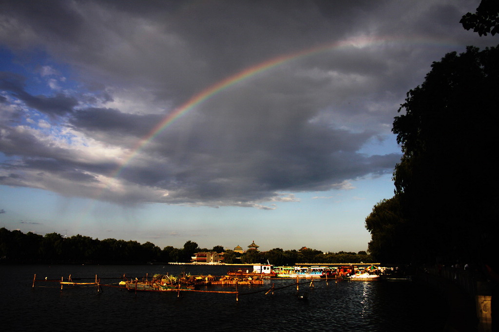
<path fill-rule="evenodd" d="M 42 50 L 74 84 L 34 93 L 32 80 L 0 74 L 1 182 L 87 197 L 105 187 L 102 200 L 123 204 L 255 206 L 390 174 L 400 103 L 448 44 L 478 40 L 459 24 L 477 3 L 2 1 L 1 46 L 23 64 Z M 227 77 L 345 40 L 360 42 L 250 75 L 150 135 Z M 366 153 L 372 142 L 392 148 Z"/>

